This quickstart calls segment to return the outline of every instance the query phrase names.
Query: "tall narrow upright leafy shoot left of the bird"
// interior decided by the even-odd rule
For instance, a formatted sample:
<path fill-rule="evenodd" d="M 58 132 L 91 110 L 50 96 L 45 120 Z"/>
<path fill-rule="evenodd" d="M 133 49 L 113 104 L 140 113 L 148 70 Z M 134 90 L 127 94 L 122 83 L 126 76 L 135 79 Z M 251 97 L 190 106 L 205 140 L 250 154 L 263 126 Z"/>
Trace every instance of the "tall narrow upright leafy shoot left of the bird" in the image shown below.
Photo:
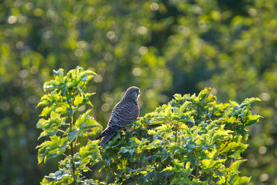
<path fill-rule="evenodd" d="M 98 141 L 87 141 L 80 147 L 80 139 L 95 136 L 102 127 L 89 116 L 91 109 L 80 116 L 76 114 L 86 105 L 92 107 L 89 97 L 94 93 L 84 93 L 84 89 L 96 73 L 76 67 L 66 76 L 63 69 L 54 70 L 54 74 L 55 80 L 44 83 L 44 90 L 50 92 L 42 96 L 37 105 L 44 106 L 40 116 L 49 117 L 47 120 L 41 118 L 37 123 L 43 130 L 38 139 L 48 136 L 48 140 L 37 146 L 37 159 L 38 163 L 46 163 L 52 157 L 64 155 L 65 158 L 59 162 L 59 170 L 45 176 L 42 184 L 91 184 L 94 181 L 83 179 L 82 173 L 90 170 L 87 165 L 101 159 Z"/>

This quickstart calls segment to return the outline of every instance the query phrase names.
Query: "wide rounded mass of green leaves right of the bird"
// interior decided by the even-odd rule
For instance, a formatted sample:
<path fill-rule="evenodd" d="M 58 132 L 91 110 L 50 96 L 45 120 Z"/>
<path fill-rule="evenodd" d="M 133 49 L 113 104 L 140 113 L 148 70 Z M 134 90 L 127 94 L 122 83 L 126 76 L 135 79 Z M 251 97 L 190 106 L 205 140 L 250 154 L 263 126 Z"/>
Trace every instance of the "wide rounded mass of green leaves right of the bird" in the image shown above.
<path fill-rule="evenodd" d="M 198 96 L 175 94 L 133 123 L 131 131 L 101 150 L 114 184 L 245 184 L 240 156 L 247 148 L 245 127 L 258 122 L 247 98 L 240 105 L 216 103 L 211 88 Z M 119 138 L 119 139 L 118 139 Z"/>

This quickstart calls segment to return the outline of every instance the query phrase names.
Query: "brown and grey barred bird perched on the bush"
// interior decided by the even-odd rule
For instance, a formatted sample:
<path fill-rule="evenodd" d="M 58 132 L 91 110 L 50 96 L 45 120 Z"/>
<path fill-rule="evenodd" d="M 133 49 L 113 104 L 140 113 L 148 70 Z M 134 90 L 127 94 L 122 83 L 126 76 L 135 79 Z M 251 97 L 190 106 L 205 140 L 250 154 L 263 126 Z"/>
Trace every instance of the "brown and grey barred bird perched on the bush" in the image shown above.
<path fill-rule="evenodd" d="M 127 89 L 120 102 L 114 106 L 107 128 L 96 137 L 96 140 L 103 137 L 102 141 L 98 143 L 98 146 L 103 146 L 111 140 L 116 130 L 123 130 L 125 125 L 131 123 L 131 121 L 136 121 L 136 118 L 139 116 L 139 94 L 138 87 L 129 87 Z"/>

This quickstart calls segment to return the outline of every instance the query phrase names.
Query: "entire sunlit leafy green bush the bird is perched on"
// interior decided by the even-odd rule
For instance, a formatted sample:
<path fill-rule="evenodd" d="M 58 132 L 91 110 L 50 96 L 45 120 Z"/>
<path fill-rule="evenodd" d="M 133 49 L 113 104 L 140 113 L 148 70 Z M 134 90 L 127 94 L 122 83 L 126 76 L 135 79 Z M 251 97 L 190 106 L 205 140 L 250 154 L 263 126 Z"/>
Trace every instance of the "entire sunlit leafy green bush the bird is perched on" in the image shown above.
<path fill-rule="evenodd" d="M 96 136 L 100 125 L 89 111 L 74 117 L 83 105 L 91 105 L 83 89 L 95 74 L 78 67 L 63 76 L 54 71 L 55 80 L 44 84 L 50 94 L 42 97 L 44 105 L 37 127 L 49 136 L 39 148 L 39 163 L 64 155 L 59 170 L 45 176 L 42 184 L 93 184 L 83 173 L 101 164 L 107 173 L 106 183 L 112 184 L 245 184 L 250 177 L 239 176 L 240 156 L 247 148 L 245 127 L 258 122 L 252 115 L 247 98 L 240 105 L 233 101 L 217 104 L 211 88 L 198 96 L 175 94 L 167 105 L 145 114 L 129 124 L 129 130 L 116 134 L 100 150 Z M 92 105 L 91 105 L 92 106 Z M 75 123 L 74 123 L 74 120 Z M 59 132 L 60 131 L 60 132 Z M 85 138 L 80 141 L 78 138 Z M 83 144 L 84 146 L 78 146 Z M 91 167 L 92 166 L 92 167 Z"/>

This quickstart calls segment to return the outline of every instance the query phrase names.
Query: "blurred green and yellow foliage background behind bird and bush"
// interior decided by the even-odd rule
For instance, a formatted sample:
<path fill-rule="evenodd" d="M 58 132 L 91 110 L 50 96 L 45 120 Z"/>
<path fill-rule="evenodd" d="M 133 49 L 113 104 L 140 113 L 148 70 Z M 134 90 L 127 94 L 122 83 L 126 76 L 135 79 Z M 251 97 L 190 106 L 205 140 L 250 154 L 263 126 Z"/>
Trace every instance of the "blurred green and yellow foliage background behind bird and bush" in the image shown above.
<path fill-rule="evenodd" d="M 213 87 L 220 102 L 258 97 L 264 118 L 248 128 L 250 184 L 277 184 L 277 1 L 2 0 L 0 184 L 38 184 L 35 109 L 53 69 L 98 73 L 88 91 L 107 125 L 127 87 L 141 88 L 141 116 L 172 95 Z M 99 174 L 96 174 L 99 176 Z"/>

